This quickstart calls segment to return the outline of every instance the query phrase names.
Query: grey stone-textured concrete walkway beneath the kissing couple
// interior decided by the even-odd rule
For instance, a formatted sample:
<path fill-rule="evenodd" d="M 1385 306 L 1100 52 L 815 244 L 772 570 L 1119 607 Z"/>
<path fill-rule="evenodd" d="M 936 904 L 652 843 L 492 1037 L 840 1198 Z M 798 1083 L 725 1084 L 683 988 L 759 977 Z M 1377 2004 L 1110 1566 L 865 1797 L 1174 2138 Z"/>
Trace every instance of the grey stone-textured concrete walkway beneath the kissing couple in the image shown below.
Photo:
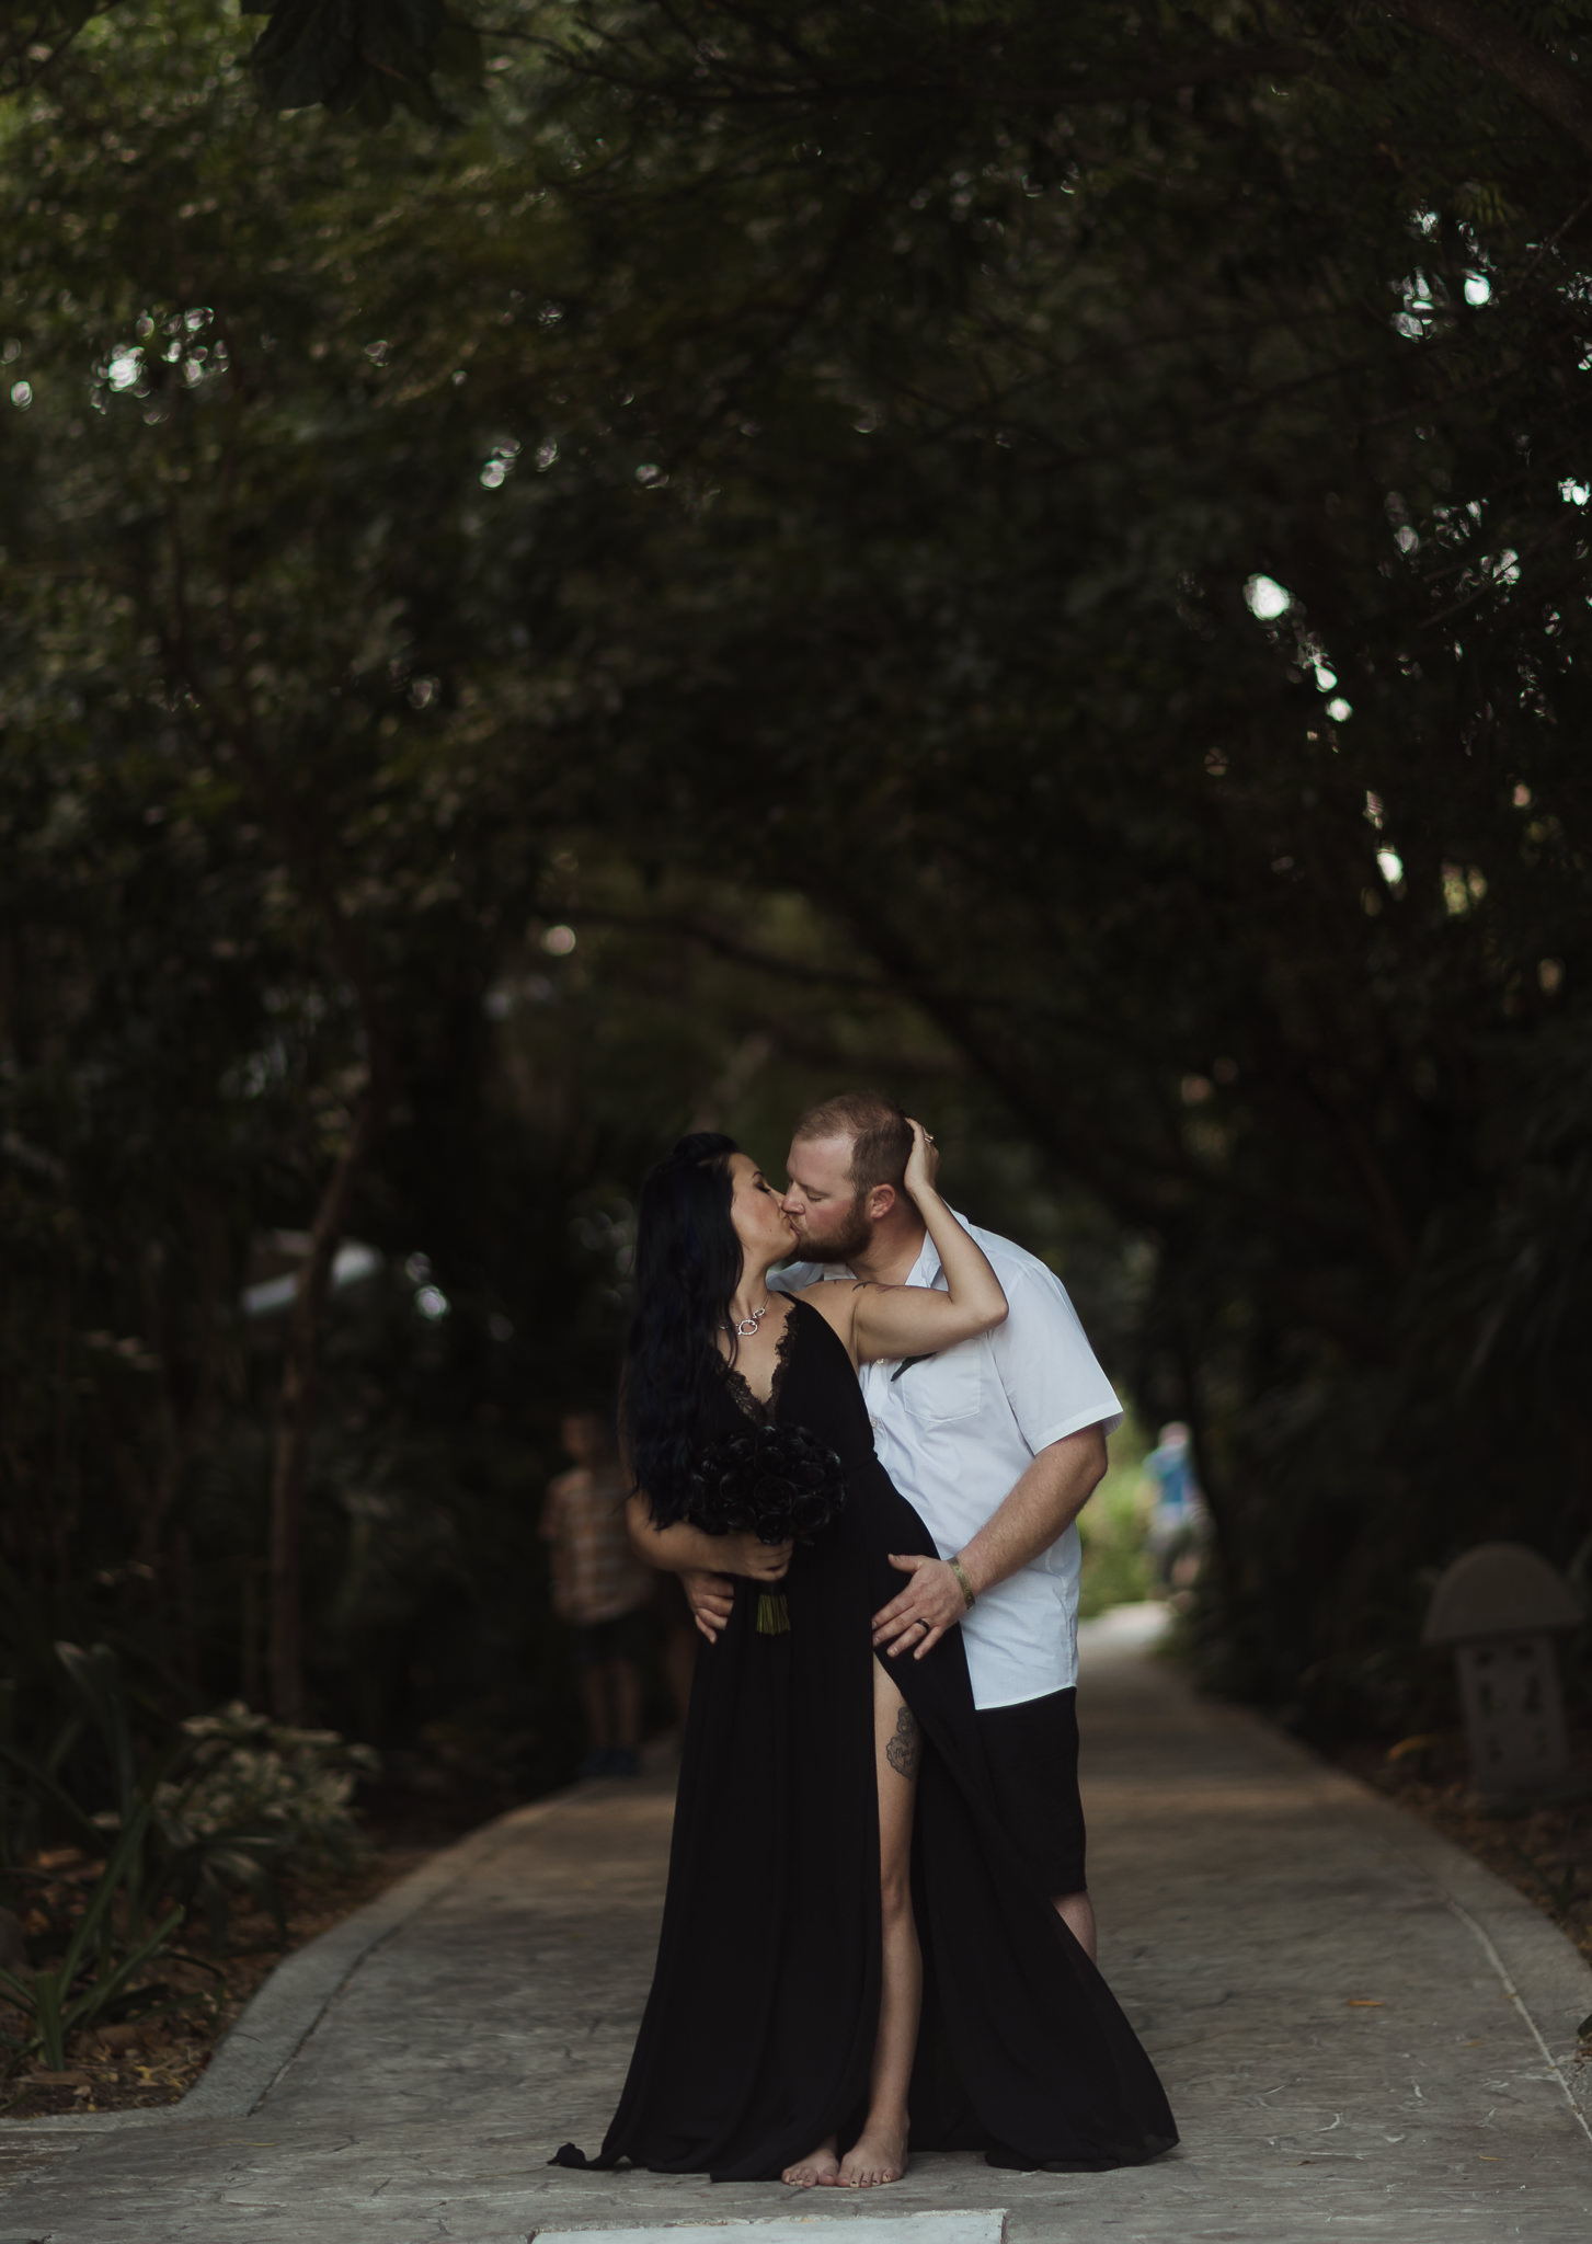
<path fill-rule="evenodd" d="M 1592 1972 L 1570 1943 L 1399 1809 L 1197 1701 L 1143 1613 L 1087 1636 L 1102 1966 L 1183 2132 L 1156 2165 L 925 2156 L 898 2188 L 797 2201 L 548 2168 L 566 2136 L 600 2141 L 635 2033 L 669 1833 L 653 1777 L 521 1809 L 290 1959 L 175 2112 L 0 2127 L 20 2168 L 0 2244 L 510 2244 L 793 2215 L 806 2237 L 862 2219 L 851 2244 L 876 2224 L 916 2244 L 963 2224 L 907 2215 L 952 2210 L 1004 2210 L 1010 2244 L 1583 2244 Z"/>

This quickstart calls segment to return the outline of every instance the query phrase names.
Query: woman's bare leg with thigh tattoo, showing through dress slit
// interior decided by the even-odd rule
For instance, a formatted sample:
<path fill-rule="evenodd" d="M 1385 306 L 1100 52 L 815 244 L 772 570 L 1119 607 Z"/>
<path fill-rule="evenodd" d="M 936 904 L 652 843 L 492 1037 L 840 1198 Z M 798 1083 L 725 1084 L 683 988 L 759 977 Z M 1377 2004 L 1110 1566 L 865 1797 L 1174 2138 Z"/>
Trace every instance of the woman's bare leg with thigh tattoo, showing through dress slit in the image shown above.
<path fill-rule="evenodd" d="M 907 2172 L 907 2089 L 923 2011 L 923 1955 L 912 1916 L 912 1811 L 923 1735 L 882 1661 L 873 1661 L 873 1750 L 878 1755 L 878 1876 L 882 1986 L 869 2116 L 840 2161 L 840 2181 L 867 2190 Z"/>

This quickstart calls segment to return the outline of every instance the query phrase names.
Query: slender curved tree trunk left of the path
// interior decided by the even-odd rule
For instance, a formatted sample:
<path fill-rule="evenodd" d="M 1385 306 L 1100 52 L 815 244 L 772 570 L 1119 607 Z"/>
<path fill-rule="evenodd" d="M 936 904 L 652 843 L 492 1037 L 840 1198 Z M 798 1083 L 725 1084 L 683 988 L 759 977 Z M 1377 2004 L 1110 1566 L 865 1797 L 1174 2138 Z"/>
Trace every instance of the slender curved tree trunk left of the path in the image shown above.
<path fill-rule="evenodd" d="M 287 1317 L 283 1385 L 272 1456 L 269 1560 L 269 1690 L 278 1721 L 303 1721 L 303 1497 L 310 1479 L 310 1432 L 321 1342 L 321 1317 L 332 1286 L 332 1263 L 348 1221 L 355 1185 L 382 1129 L 388 1070 L 370 1057 L 370 1077 L 355 1109 L 348 1142 L 326 1180 L 310 1230 L 310 1254 Z"/>

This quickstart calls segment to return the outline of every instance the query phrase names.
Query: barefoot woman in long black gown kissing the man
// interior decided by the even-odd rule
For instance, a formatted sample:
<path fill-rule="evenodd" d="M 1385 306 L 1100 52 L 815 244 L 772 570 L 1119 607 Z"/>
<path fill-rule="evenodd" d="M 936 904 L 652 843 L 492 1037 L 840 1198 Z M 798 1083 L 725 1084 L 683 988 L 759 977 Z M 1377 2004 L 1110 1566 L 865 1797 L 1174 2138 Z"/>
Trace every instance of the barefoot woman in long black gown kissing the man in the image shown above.
<path fill-rule="evenodd" d="M 959 1631 L 891 1672 L 871 1616 L 891 1551 L 932 1548 L 873 1456 L 856 1367 L 983 1333 L 1006 1299 L 934 1189 L 907 1192 L 950 1290 L 768 1293 L 779 1201 L 732 1140 L 696 1133 L 647 1180 L 624 1420 L 638 1542 L 667 1571 L 736 1575 L 698 1658 L 658 1968 L 602 2152 L 561 2165 L 869 2186 L 918 2150 L 1105 2168 L 1177 2141 L 1109 1988 L 1006 1842 Z M 683 1517 L 703 1450 L 748 1420 L 831 1450 L 847 1501 L 811 1539 Z M 644 1495 L 640 1492 L 644 1490 Z M 757 1625 L 768 1587 L 788 1629 Z"/>

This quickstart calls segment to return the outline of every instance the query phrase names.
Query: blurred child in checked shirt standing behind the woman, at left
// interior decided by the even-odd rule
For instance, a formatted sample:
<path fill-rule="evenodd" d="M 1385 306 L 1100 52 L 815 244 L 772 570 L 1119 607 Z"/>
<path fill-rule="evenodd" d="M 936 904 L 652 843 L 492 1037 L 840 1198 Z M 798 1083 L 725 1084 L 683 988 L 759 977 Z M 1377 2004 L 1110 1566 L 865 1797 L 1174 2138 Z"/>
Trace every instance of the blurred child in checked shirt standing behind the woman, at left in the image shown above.
<path fill-rule="evenodd" d="M 624 1521 L 631 1483 L 600 1411 L 564 1418 L 575 1459 L 548 1483 L 541 1533 L 552 1557 L 552 1611 L 568 1622 L 586 1705 L 582 1777 L 633 1777 L 642 1744 L 642 1661 L 653 1578 Z"/>

